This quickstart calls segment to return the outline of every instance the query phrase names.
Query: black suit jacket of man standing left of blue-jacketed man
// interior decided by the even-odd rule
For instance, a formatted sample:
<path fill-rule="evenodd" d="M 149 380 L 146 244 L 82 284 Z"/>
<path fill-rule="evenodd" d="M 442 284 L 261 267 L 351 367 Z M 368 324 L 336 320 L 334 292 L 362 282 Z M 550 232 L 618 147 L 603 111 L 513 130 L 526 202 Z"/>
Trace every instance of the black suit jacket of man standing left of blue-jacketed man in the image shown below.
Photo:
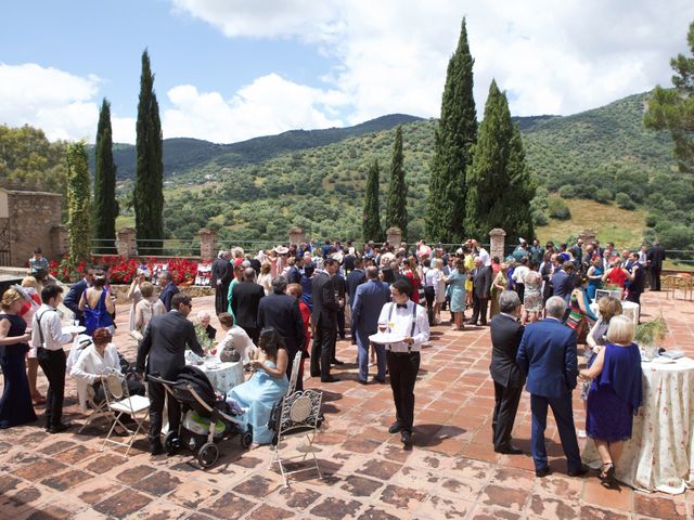
<path fill-rule="evenodd" d="M 489 323 L 491 333 L 491 365 L 494 382 L 504 387 L 523 387 L 525 375 L 516 364 L 516 355 L 525 327 L 515 320 L 497 314 Z"/>

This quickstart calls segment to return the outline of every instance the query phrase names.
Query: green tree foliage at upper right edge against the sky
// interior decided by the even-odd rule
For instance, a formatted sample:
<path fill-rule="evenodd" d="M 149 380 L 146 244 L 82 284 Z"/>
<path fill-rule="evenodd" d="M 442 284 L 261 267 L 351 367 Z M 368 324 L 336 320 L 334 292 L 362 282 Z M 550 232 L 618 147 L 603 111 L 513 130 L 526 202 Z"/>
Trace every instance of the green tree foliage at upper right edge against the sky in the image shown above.
<path fill-rule="evenodd" d="M 656 87 L 648 100 L 643 121 L 646 127 L 668 130 L 674 142 L 674 156 L 680 170 L 694 172 L 694 22 L 686 41 L 692 57 L 678 54 L 670 60 L 673 90 Z"/>

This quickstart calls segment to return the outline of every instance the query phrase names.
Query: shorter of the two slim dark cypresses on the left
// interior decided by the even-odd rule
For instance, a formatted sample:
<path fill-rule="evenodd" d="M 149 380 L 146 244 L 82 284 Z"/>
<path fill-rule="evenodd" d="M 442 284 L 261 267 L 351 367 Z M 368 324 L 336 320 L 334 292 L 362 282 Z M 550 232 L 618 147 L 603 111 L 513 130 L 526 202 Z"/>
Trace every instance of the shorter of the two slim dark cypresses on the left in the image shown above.
<path fill-rule="evenodd" d="M 111 103 L 105 98 L 99 114 L 95 156 L 94 237 L 99 240 L 99 252 L 114 253 L 118 202 L 116 200 L 116 165 L 113 161 Z"/>

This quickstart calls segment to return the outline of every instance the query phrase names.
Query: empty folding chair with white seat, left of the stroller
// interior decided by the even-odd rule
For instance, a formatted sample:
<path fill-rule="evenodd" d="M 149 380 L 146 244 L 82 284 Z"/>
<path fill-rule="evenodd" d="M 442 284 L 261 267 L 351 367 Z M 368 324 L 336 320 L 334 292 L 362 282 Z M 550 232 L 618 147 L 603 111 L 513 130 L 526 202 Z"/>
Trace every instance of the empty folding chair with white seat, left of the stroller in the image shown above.
<path fill-rule="evenodd" d="M 119 446 L 126 446 L 125 455 L 127 457 L 138 433 L 142 431 L 144 434 L 144 421 L 150 416 L 150 400 L 143 395 L 130 395 L 128 385 L 117 374 L 111 374 L 105 377 L 102 376 L 102 384 L 106 395 L 106 406 L 114 413 L 115 418 L 106 439 L 104 439 L 104 443 L 101 445 L 100 452 L 104 451 L 106 442 L 111 442 Z M 130 431 L 130 429 L 120 421 L 120 417 L 124 414 L 129 415 L 137 425 L 134 431 Z M 116 425 L 120 426 L 128 433 L 132 433 L 128 442 L 119 442 L 111 439 L 111 435 L 116 429 Z"/>

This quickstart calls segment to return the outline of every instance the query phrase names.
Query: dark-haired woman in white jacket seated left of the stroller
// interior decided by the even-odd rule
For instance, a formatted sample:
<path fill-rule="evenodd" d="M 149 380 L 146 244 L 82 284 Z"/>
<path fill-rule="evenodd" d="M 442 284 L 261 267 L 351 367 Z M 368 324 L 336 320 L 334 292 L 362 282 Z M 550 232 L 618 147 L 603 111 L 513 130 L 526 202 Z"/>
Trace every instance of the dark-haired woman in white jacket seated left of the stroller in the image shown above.
<path fill-rule="evenodd" d="M 94 390 L 94 402 L 100 403 L 105 398 L 101 384 L 101 376 L 116 374 L 124 378 L 120 372 L 120 361 L 111 332 L 99 327 L 92 335 L 92 343 L 86 347 L 70 370 L 70 376 L 87 381 Z M 144 395 L 144 385 L 133 379 L 127 380 L 130 395 Z"/>

